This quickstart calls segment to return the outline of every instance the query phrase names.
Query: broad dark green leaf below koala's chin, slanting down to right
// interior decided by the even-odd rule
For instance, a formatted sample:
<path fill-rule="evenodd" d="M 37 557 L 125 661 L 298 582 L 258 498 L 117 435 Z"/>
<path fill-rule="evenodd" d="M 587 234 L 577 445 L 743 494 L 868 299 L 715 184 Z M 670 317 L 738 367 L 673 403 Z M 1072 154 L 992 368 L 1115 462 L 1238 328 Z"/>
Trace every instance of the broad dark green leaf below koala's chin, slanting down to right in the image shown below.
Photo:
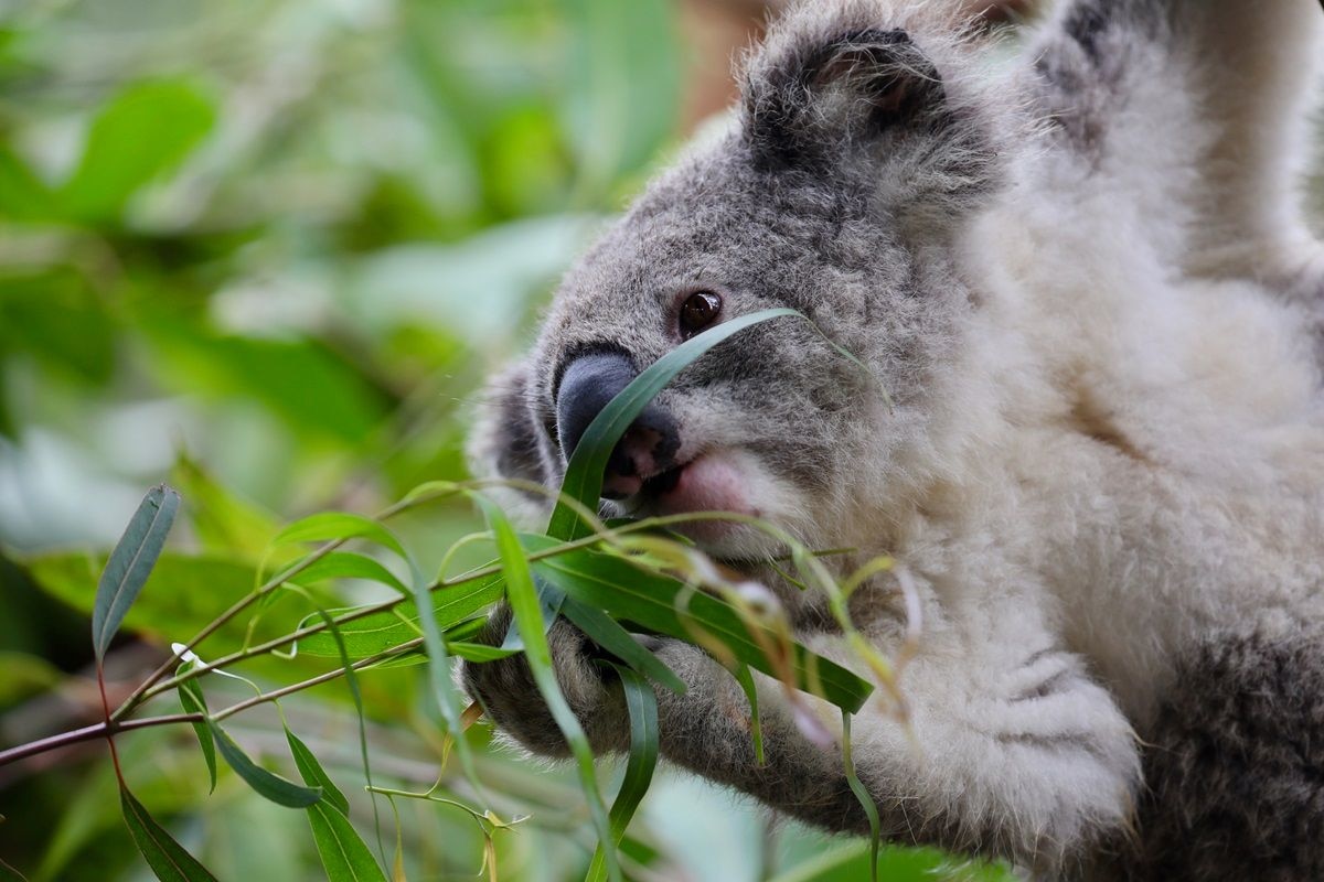
<path fill-rule="evenodd" d="M 523 534 L 530 551 L 543 551 L 559 545 L 555 540 Z M 606 611 L 616 619 L 633 621 L 658 633 L 691 641 L 687 620 L 716 636 L 731 652 L 757 670 L 776 676 L 757 641 L 749 635 L 740 614 L 720 598 L 704 592 L 690 594 L 686 614 L 681 604 L 683 584 L 657 573 L 642 570 L 625 558 L 589 549 L 576 549 L 532 563 L 534 571 L 557 584 L 571 598 Z M 767 635 L 775 641 L 773 635 Z M 796 686 L 821 693 L 831 703 L 855 713 L 873 692 L 873 685 L 829 659 L 817 656 L 796 644 L 792 666 Z M 818 689 L 816 689 L 816 685 Z"/>

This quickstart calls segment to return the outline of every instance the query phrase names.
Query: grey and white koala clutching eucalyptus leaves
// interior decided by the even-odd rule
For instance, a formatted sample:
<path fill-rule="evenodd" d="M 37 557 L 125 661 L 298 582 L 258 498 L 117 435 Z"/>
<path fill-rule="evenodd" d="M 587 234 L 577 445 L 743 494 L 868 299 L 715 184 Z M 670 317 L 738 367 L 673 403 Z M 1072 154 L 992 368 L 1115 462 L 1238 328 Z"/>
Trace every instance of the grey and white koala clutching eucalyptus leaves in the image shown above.
<path fill-rule="evenodd" d="M 884 834 L 1043 879 L 1324 878 L 1324 247 L 1299 186 L 1321 5 L 1070 0 L 997 63 L 949 5 L 775 22 L 730 126 L 577 262 L 493 383 L 475 468 L 559 487 L 638 370 L 793 307 L 818 331 L 759 324 L 657 397 L 602 508 L 756 514 L 853 549 L 843 574 L 904 567 L 908 721 L 878 696 L 853 727 Z M 681 529 L 863 670 L 775 541 Z M 899 649 L 895 574 L 850 612 Z M 650 640 L 690 686 L 657 690 L 663 756 L 867 832 L 839 748 L 775 684 L 760 764 L 728 672 Z M 596 648 L 564 623 L 551 641 L 594 748 L 625 750 Z M 567 755 L 519 657 L 461 678 L 510 738 Z"/>

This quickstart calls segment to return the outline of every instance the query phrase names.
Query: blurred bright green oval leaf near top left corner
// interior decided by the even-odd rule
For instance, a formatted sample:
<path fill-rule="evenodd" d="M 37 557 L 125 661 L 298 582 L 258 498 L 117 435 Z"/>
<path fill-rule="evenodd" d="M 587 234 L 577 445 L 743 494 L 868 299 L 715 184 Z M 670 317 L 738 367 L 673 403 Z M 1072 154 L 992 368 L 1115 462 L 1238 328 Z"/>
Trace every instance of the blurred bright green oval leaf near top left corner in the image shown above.
<path fill-rule="evenodd" d="M 93 120 L 82 161 L 60 189 L 65 210 L 83 221 L 115 217 L 143 184 L 179 165 L 214 118 L 188 83 L 128 86 Z"/>

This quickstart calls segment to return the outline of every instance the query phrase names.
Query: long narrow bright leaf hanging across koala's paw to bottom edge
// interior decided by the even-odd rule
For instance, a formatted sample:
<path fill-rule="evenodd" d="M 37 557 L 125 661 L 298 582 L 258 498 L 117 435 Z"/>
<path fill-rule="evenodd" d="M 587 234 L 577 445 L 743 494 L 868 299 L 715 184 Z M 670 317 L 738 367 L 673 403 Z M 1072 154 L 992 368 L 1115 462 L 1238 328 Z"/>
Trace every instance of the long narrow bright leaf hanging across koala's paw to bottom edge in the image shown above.
<path fill-rule="evenodd" d="M 602 793 L 597 789 L 597 775 L 593 771 L 593 751 L 589 747 L 588 737 L 580 726 L 575 711 L 565 702 L 561 688 L 556 682 L 552 670 L 552 651 L 543 631 L 543 614 L 539 610 L 538 591 L 534 587 L 534 574 L 524 559 L 524 550 L 519 545 L 519 537 L 511 528 L 510 521 L 499 508 L 482 496 L 474 497 L 487 517 L 496 540 L 496 551 L 500 555 L 502 571 L 506 574 L 506 600 L 510 603 L 515 618 L 515 627 L 524 640 L 524 657 L 534 674 L 534 682 L 542 694 L 547 709 L 556 721 L 556 726 L 565 735 L 565 742 L 575 755 L 575 764 L 579 770 L 580 788 L 588 801 L 589 816 L 597 829 L 600 842 L 612 842 L 610 825 L 606 817 L 606 805 L 602 803 Z M 621 867 L 616 860 L 616 849 L 605 852 L 606 873 L 612 882 L 620 882 Z"/>

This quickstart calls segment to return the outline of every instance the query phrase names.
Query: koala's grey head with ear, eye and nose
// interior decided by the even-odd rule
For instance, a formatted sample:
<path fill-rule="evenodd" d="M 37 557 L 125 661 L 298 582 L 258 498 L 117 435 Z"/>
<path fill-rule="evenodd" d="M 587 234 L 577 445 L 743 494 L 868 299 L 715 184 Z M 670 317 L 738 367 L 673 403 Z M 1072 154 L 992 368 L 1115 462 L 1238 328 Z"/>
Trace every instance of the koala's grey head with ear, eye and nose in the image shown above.
<path fill-rule="evenodd" d="M 589 421 L 642 368 L 768 307 L 809 321 L 755 325 L 688 366 L 616 448 L 609 513 L 740 512 L 841 543 L 924 443 L 974 308 L 953 242 L 996 189 L 996 103 L 973 91 L 974 54 L 951 21 L 920 4 L 829 5 L 772 30 L 730 130 L 565 276 L 534 352 L 493 386 L 479 473 L 557 487 Z M 682 532 L 727 558 L 775 547 L 747 526 Z"/>

